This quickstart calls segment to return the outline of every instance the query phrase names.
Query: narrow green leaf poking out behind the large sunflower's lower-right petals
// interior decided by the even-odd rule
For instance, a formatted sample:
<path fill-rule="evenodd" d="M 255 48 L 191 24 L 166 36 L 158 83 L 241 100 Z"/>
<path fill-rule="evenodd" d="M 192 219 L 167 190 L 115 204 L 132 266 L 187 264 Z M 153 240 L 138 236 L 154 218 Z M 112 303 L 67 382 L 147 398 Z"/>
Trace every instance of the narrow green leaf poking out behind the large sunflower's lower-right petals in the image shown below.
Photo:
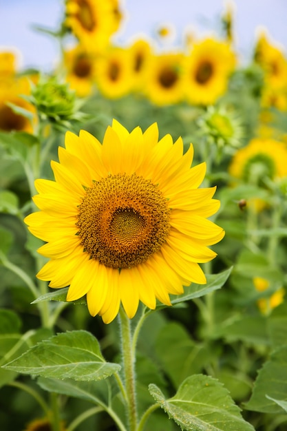
<path fill-rule="evenodd" d="M 220 289 L 229 275 L 231 275 L 233 267 L 226 269 L 219 274 L 206 275 L 206 284 L 191 284 L 184 288 L 183 295 L 173 296 L 171 299 L 171 304 L 180 304 L 180 302 L 189 301 L 189 299 L 198 298 L 200 296 L 206 295 Z"/>

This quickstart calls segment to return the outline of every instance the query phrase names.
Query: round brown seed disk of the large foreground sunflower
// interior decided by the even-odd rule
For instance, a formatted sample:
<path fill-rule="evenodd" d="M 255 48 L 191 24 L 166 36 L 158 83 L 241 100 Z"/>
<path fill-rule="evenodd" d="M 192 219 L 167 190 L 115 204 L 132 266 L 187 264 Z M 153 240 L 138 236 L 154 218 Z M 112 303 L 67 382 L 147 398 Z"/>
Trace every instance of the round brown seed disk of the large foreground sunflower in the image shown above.
<path fill-rule="evenodd" d="M 94 182 L 78 210 L 84 251 L 111 268 L 145 262 L 169 235 L 167 200 L 158 186 L 136 174 Z"/>

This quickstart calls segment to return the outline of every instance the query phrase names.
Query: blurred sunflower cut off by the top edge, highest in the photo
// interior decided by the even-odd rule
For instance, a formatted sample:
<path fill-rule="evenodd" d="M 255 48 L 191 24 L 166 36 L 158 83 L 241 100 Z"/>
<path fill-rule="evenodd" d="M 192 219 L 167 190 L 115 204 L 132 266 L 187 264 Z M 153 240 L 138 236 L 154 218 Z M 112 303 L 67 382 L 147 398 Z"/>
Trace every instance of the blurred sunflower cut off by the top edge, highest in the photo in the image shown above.
<path fill-rule="evenodd" d="M 66 0 L 65 25 L 87 50 L 103 50 L 115 31 L 111 0 Z"/>

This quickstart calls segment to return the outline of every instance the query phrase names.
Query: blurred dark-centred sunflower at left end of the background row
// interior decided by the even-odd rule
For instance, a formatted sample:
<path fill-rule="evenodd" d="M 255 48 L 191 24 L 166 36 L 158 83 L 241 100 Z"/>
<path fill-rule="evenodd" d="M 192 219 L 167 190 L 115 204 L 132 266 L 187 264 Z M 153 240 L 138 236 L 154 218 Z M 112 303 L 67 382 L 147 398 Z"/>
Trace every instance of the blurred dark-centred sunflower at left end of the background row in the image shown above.
<path fill-rule="evenodd" d="M 79 97 L 92 94 L 96 74 L 94 54 L 77 45 L 76 48 L 64 52 L 64 63 L 67 70 L 66 81 L 71 90 L 75 90 Z"/>

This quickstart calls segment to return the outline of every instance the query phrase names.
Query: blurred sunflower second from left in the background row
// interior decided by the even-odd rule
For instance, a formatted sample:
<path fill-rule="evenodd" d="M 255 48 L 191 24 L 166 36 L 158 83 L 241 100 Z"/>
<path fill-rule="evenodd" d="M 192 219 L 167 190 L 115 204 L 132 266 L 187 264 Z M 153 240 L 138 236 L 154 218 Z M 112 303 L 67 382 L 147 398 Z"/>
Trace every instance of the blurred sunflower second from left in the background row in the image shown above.
<path fill-rule="evenodd" d="M 123 48 L 111 47 L 96 61 L 96 84 L 107 98 L 127 95 L 134 85 L 131 56 Z"/>

